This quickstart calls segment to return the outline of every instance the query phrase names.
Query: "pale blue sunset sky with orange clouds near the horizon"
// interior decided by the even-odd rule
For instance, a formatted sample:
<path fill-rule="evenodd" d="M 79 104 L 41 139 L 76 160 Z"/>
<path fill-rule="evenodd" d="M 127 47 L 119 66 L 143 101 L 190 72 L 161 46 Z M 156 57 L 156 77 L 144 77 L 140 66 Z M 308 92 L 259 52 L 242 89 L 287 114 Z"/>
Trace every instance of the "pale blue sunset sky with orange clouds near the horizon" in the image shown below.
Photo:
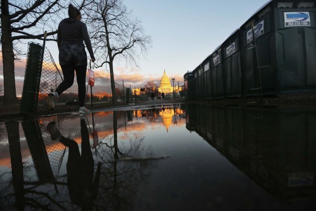
<path fill-rule="evenodd" d="M 140 69 L 116 63 L 117 83 L 143 86 L 159 83 L 163 70 L 183 84 L 183 75 L 195 69 L 228 36 L 268 0 L 122 0 L 132 15 L 142 21 L 146 35 L 152 37 L 152 48 L 146 58 L 138 60 Z M 46 43 L 58 63 L 56 42 Z M 27 45 L 25 46 L 27 48 Z M 2 60 L 2 57 L 0 57 Z M 3 87 L 2 61 L 0 84 Z M 25 60 L 15 63 L 17 95 L 21 95 Z M 99 75 L 108 74 L 98 70 Z"/>

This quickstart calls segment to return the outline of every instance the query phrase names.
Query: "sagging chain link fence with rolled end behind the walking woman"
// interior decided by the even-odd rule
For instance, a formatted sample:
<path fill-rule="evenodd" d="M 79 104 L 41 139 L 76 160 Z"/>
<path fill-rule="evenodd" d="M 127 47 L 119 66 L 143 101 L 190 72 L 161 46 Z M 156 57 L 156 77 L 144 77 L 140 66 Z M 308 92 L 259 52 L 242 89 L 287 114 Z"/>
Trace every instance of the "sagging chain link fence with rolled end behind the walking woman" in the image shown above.
<path fill-rule="evenodd" d="M 45 49 L 43 51 L 43 49 Z M 89 73 L 86 75 L 85 103 L 102 103 L 112 101 L 111 81 L 94 72 L 94 86 L 89 85 Z M 49 50 L 35 42 L 28 45 L 26 70 L 21 99 L 21 113 L 44 111 L 47 94 L 56 90 L 64 80 L 63 73 L 56 65 Z M 115 83 L 118 101 L 125 101 L 129 87 Z M 74 84 L 65 90 L 56 101 L 55 110 L 65 109 L 58 105 L 78 107 L 78 84 L 75 74 Z"/>

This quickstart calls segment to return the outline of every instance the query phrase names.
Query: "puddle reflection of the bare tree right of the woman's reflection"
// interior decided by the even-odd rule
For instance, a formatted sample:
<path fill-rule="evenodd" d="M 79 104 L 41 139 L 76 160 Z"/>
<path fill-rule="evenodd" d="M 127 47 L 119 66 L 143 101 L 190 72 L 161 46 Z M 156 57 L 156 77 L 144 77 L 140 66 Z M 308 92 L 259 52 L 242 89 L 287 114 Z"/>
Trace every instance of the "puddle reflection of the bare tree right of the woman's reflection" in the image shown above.
<path fill-rule="evenodd" d="M 156 166 L 156 162 L 118 161 L 118 158 L 125 156 L 150 156 L 151 151 L 147 149 L 145 152 L 144 137 L 130 140 L 130 145 L 128 147 L 120 146 L 120 150 L 117 137 L 117 112 L 114 112 L 113 116 L 114 136 L 103 143 L 98 150 L 103 165 L 96 206 L 100 206 L 101 210 L 126 210 L 132 207 L 137 187 L 150 176 L 150 169 Z"/>

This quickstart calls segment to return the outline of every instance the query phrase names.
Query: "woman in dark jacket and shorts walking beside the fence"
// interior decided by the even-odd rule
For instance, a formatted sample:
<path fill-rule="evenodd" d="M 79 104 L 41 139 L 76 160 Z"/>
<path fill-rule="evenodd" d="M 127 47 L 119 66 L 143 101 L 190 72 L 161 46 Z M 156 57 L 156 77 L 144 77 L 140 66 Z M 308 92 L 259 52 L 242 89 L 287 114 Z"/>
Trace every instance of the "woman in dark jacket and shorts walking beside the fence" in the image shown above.
<path fill-rule="evenodd" d="M 91 61 L 95 58 L 86 25 L 81 22 L 79 9 L 72 4 L 68 7 L 69 18 L 62 20 L 58 25 L 57 44 L 59 49 L 59 64 L 63 71 L 64 81 L 59 84 L 55 92 L 48 94 L 45 103 L 47 110 L 53 110 L 55 98 L 59 97 L 66 89 L 74 84 L 75 71 L 78 84 L 79 114 L 88 113 L 90 110 L 84 107 L 85 75 L 87 68 L 87 55 L 83 41 L 89 51 Z"/>

